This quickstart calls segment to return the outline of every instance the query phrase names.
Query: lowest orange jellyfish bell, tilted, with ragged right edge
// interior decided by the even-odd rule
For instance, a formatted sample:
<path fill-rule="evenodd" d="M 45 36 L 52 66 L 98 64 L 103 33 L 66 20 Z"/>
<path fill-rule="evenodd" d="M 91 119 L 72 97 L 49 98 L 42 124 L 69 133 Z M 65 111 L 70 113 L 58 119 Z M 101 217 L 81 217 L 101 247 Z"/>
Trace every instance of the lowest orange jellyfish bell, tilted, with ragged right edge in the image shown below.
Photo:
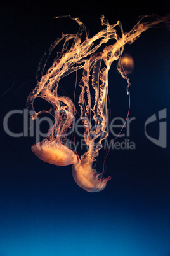
<path fill-rule="evenodd" d="M 72 166 L 72 176 L 77 185 L 88 192 L 100 192 L 111 179 L 110 176 L 102 178 L 102 175 L 92 168 L 92 162 L 82 164 L 80 160 Z"/>

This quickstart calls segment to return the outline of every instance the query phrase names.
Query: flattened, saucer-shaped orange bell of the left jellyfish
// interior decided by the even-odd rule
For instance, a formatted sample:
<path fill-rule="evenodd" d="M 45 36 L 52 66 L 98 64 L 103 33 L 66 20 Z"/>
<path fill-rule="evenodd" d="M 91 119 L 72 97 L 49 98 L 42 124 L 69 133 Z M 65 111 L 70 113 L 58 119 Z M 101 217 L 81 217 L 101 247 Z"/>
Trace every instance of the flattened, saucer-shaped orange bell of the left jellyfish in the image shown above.
<path fill-rule="evenodd" d="M 78 162 L 77 155 L 61 143 L 44 141 L 34 144 L 31 149 L 36 157 L 56 166 L 67 166 Z"/>

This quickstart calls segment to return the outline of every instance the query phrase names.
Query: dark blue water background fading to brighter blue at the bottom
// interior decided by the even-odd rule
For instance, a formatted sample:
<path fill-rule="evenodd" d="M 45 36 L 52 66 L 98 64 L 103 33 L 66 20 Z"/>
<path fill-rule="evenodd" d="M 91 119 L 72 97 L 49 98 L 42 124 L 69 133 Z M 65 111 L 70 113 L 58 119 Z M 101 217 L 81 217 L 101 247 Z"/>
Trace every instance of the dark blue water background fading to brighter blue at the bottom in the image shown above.
<path fill-rule="evenodd" d="M 101 29 L 102 13 L 110 24 L 120 20 L 128 32 L 138 16 L 169 11 L 168 2 L 162 1 L 157 5 L 148 1 L 15 1 L 1 5 L 1 94 L 11 87 L 1 97 L 2 121 L 8 111 L 25 108 L 36 85 L 37 66 L 51 43 L 62 31 L 77 32 L 74 22 L 53 17 L 79 17 L 93 36 Z M 125 47 L 124 52 L 135 62 L 129 76 L 129 117 L 136 120 L 131 123 L 129 139 L 136 150 L 110 150 L 105 177 L 110 175 L 112 180 L 100 193 L 78 187 L 71 166 L 52 166 L 37 159 L 30 150 L 35 138 L 12 138 L 1 122 L 1 256 L 170 255 L 169 121 L 166 148 L 153 144 L 144 134 L 148 117 L 164 108 L 169 116 L 169 43 L 169 31 L 155 28 Z M 74 85 L 75 80 L 70 84 L 69 78 L 63 82 L 68 92 L 74 92 Z M 112 118 L 126 118 L 126 82 L 115 64 L 109 75 L 109 97 Z M 23 116 L 13 115 L 9 127 L 22 132 Z M 148 131 L 154 138 L 158 132 L 158 124 Z M 98 171 L 104 154 L 101 150 Z"/>

